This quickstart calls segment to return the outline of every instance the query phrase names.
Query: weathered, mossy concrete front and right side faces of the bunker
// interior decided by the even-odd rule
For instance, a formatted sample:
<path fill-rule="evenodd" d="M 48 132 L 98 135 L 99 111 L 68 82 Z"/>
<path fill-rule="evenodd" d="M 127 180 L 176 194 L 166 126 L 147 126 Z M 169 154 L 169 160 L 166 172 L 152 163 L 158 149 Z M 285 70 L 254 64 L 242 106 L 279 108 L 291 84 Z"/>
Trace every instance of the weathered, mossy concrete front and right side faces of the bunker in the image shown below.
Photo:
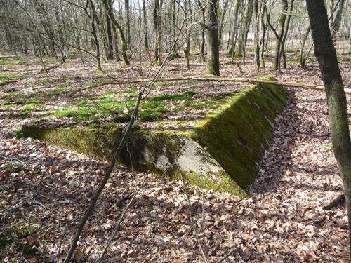
<path fill-rule="evenodd" d="M 119 161 L 171 178 L 180 178 L 181 172 L 192 184 L 247 196 L 286 96 L 285 88 L 256 85 L 235 95 L 232 102 L 189 132 L 134 130 Z M 23 126 L 22 132 L 27 137 L 108 160 L 122 130 L 33 124 Z"/>

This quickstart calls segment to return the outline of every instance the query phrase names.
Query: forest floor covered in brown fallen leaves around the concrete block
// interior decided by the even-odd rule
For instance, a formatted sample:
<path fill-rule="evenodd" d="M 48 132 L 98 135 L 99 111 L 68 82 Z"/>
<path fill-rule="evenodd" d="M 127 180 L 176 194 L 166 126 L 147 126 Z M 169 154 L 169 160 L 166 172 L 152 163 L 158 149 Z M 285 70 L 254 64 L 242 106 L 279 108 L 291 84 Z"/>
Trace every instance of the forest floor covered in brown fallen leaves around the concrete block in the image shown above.
<path fill-rule="evenodd" d="M 76 102 L 87 94 L 98 96 L 128 87 L 106 85 L 75 93 L 101 77 L 91 65 L 74 60 L 46 74 L 41 71 L 41 62 L 33 58 L 6 60 L 0 76 L 4 79 L 6 75 L 8 80 L 20 74 L 22 79 L 0 86 L 0 218 L 8 213 L 0 223 L 0 262 L 55 262 L 60 245 L 61 255 L 67 252 L 79 216 L 107 163 L 38 140 L 19 139 L 15 133 L 38 118 L 77 121 L 74 114 L 55 115 L 60 107 L 72 107 L 73 96 L 77 96 Z M 145 77 L 148 70 L 143 65 L 133 68 L 120 63 L 105 63 L 103 67 L 118 79 Z M 340 62 L 340 68 L 345 88 L 351 88 L 350 55 Z M 204 69 L 204 64 L 197 61 L 187 69 L 183 58 L 173 60 L 164 76 L 203 76 Z M 221 75 L 258 75 L 250 58 L 241 69 L 242 74 L 237 65 L 225 59 Z M 322 83 L 313 61 L 306 69 L 291 64 L 282 72 L 267 68 L 260 74 L 274 75 L 282 81 Z M 248 86 L 193 82 L 180 85 L 157 86 L 152 96 L 195 90 L 201 100 L 201 96 L 218 95 L 218 90 L 231 93 Z M 73 92 L 65 93 L 67 90 Z M 197 225 L 194 230 L 182 182 L 150 175 L 126 213 L 105 262 L 190 262 L 193 252 L 193 262 L 204 262 L 199 248 L 194 250 L 200 229 L 199 242 L 208 262 L 216 262 L 228 252 L 232 254 L 227 262 L 348 262 L 345 207 L 322 208 L 343 190 L 329 137 L 326 97 L 318 90 L 289 90 L 289 104 L 277 117 L 274 142 L 260 163 L 251 198 L 235 198 L 188 185 Z M 347 104 L 350 108 L 350 95 Z M 177 116 L 201 118 L 207 106 L 194 109 L 185 105 Z M 162 118 L 171 118 L 173 109 L 161 112 L 165 114 Z M 155 125 L 154 121 L 143 123 Z M 121 210 L 143 177 L 143 173 L 115 168 L 84 228 L 75 262 L 98 259 Z"/>

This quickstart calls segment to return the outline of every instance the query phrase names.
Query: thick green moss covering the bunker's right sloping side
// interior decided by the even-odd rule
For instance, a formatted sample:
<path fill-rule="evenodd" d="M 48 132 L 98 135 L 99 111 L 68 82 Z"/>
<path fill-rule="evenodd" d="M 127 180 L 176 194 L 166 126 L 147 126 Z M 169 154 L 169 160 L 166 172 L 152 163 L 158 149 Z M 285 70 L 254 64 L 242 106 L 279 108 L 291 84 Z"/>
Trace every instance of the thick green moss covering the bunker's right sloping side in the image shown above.
<path fill-rule="evenodd" d="M 243 189 L 255 180 L 256 163 L 272 140 L 276 112 L 284 109 L 286 95 L 286 89 L 278 86 L 253 86 L 195 128 L 194 139 Z"/>

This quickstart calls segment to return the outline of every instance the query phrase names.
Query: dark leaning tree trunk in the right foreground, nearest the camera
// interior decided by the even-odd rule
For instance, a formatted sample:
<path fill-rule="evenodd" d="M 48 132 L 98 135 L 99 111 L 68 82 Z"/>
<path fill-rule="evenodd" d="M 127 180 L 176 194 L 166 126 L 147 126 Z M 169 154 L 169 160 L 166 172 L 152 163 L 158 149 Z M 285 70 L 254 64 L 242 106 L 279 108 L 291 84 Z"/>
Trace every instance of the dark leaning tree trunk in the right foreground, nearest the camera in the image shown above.
<path fill-rule="evenodd" d="M 331 38 L 324 1 L 307 0 L 306 3 L 314 42 L 314 54 L 317 57 L 326 90 L 331 142 L 340 175 L 343 178 L 351 241 L 351 141 L 343 79 Z"/>

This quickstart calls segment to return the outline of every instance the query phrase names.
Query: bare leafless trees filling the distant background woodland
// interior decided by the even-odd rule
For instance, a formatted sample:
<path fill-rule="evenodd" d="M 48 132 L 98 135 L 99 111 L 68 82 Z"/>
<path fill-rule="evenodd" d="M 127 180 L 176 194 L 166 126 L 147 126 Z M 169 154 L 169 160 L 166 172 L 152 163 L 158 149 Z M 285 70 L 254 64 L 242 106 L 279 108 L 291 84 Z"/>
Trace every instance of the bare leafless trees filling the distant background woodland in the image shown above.
<path fill-rule="evenodd" d="M 201 55 L 202 61 L 207 57 L 206 72 L 219 74 L 217 44 L 243 62 L 247 54 L 253 55 L 257 69 L 267 62 L 272 62 L 272 69 L 286 68 L 289 46 L 301 46 L 301 67 L 310 53 L 305 48 L 310 34 L 303 1 L 0 1 L 0 33 L 4 36 L 0 46 L 62 60 L 79 50 L 95 58 L 98 68 L 102 60 L 122 59 L 129 65 L 137 51 L 161 65 L 162 55 L 171 51 L 170 58 L 185 55 L 188 65 L 192 54 Z M 326 0 L 334 40 L 337 36 L 350 39 L 347 6 L 350 1 Z M 173 45 L 185 15 L 184 32 Z M 267 52 L 274 54 L 272 59 L 265 58 Z"/>

